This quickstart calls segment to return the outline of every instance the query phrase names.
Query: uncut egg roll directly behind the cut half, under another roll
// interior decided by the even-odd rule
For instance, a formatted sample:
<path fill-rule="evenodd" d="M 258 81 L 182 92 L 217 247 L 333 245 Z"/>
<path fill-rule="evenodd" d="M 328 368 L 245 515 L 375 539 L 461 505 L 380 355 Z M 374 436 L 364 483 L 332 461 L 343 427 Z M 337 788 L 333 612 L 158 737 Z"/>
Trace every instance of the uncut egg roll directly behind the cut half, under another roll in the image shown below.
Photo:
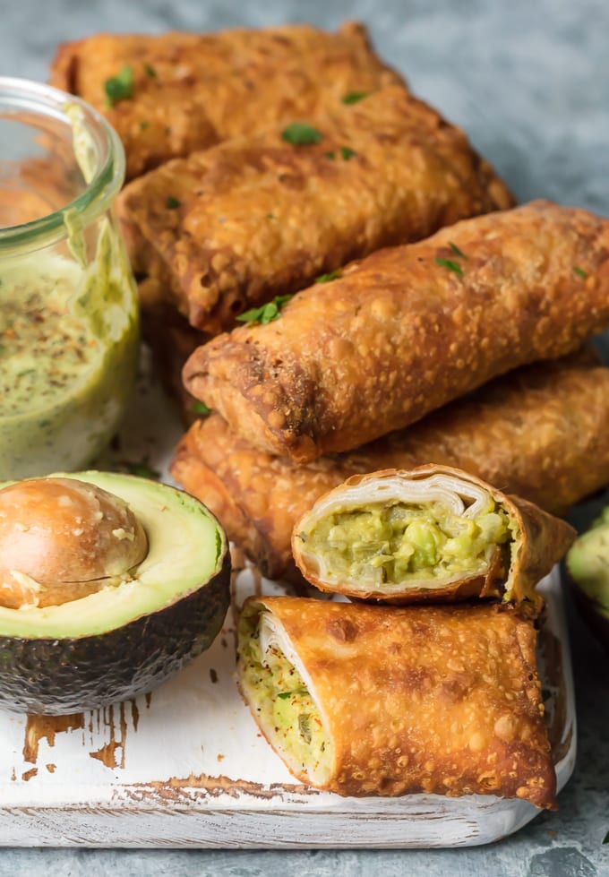
<path fill-rule="evenodd" d="M 172 473 L 278 578 L 293 570 L 296 520 L 322 494 L 357 473 L 430 461 L 564 514 L 609 482 L 609 369 L 587 354 L 528 365 L 407 429 L 306 466 L 256 450 L 211 415 L 184 435 Z"/>

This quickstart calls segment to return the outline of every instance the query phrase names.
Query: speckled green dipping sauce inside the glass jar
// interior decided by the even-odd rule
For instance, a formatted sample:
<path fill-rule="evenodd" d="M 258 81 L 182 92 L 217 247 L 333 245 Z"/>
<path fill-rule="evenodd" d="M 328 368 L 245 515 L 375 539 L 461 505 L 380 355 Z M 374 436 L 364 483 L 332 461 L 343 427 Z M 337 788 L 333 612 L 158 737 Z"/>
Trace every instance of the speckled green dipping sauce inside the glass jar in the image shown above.
<path fill-rule="evenodd" d="M 66 218 L 66 225 L 68 225 Z M 82 469 L 109 442 L 133 388 L 137 296 L 110 219 L 85 262 L 40 250 L 0 263 L 0 479 Z"/>

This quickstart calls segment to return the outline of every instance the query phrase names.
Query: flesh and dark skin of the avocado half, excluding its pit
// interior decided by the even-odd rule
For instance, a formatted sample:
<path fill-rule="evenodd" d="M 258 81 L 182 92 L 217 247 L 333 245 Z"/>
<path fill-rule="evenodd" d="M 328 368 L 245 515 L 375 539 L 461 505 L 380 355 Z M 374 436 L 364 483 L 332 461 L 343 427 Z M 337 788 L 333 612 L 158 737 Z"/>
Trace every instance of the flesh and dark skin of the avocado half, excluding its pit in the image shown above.
<path fill-rule="evenodd" d="M 64 715 L 150 692 L 211 645 L 230 600 L 227 537 L 193 496 L 116 473 L 60 477 L 123 499 L 149 548 L 119 586 L 61 606 L 0 606 L 0 709 L 13 712 Z"/>

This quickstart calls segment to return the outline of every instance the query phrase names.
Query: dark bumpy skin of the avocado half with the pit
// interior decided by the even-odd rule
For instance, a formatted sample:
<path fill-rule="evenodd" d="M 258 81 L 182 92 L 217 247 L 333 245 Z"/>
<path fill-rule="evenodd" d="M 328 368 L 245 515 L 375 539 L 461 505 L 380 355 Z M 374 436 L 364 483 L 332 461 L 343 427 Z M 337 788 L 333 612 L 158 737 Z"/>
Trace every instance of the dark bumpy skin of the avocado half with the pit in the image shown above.
<path fill-rule="evenodd" d="M 150 692 L 218 635 L 230 603 L 230 554 L 170 606 L 107 633 L 65 640 L 0 637 L 0 709 L 61 716 Z"/>

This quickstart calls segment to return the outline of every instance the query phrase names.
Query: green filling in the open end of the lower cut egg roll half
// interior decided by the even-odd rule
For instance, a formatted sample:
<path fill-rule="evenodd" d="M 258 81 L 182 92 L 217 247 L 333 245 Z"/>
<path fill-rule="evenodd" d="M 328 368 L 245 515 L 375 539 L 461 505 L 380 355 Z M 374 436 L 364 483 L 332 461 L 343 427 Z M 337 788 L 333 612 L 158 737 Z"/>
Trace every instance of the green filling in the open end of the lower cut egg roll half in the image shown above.
<path fill-rule="evenodd" d="M 244 694 L 270 743 L 294 770 L 329 770 L 322 717 L 296 667 L 277 645 L 262 653 L 259 625 L 243 619 L 239 654 Z"/>

